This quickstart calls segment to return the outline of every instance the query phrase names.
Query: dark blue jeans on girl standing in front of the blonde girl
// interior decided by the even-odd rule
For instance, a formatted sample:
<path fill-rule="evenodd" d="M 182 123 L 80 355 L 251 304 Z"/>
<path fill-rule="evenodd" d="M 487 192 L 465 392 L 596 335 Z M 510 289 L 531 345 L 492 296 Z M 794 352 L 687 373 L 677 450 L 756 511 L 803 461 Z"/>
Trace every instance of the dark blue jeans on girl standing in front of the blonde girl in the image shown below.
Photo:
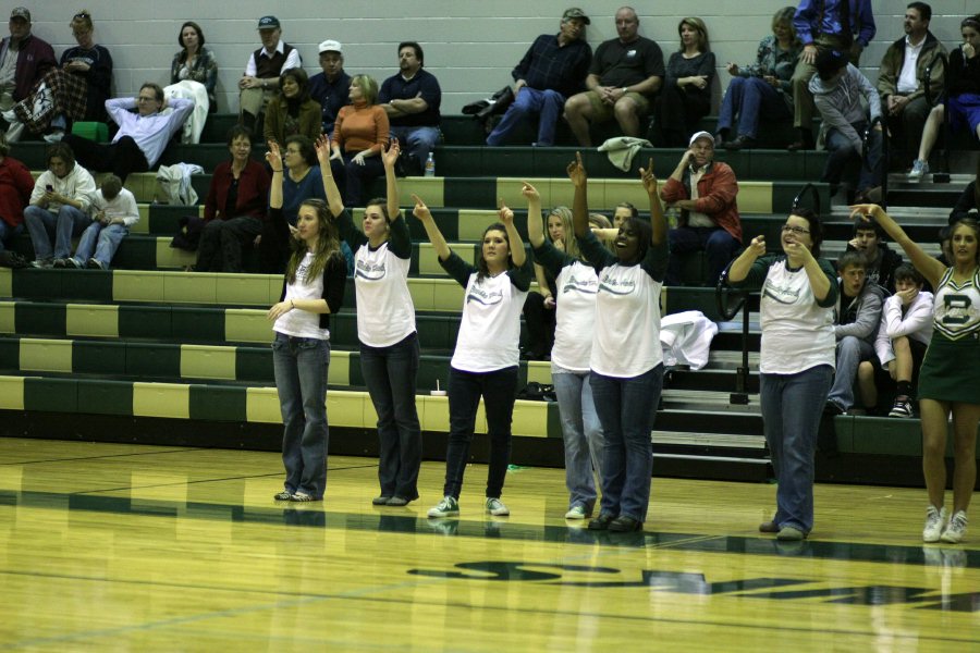
<path fill-rule="evenodd" d="M 663 387 L 663 364 L 628 379 L 592 371 L 589 382 L 604 435 L 599 510 L 646 521 L 653 473 L 650 432 Z"/>

